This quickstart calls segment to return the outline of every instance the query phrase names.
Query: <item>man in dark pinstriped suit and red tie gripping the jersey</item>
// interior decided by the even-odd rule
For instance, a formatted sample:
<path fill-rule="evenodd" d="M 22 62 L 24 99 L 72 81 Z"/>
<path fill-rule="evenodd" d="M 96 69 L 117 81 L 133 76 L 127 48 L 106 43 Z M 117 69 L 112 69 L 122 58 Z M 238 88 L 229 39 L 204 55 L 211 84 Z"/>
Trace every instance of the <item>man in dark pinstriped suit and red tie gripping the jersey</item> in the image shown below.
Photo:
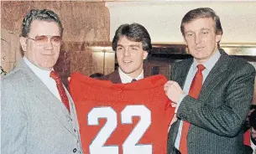
<path fill-rule="evenodd" d="M 174 64 L 166 95 L 176 106 L 168 154 L 243 154 L 243 122 L 253 99 L 255 69 L 218 44 L 220 18 L 211 8 L 185 14 L 180 26 L 193 59 Z"/>

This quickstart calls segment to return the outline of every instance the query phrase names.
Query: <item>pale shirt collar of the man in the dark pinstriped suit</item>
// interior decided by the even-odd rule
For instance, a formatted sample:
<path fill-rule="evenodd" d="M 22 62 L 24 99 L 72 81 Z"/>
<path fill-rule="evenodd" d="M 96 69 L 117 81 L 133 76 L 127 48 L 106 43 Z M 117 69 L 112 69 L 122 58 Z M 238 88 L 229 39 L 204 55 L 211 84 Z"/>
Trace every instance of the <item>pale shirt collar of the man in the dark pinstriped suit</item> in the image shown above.
<path fill-rule="evenodd" d="M 210 59 L 208 59 L 206 62 L 203 63 L 203 65 L 206 67 L 206 69 L 208 71 L 211 71 L 213 66 L 217 63 L 217 60 L 220 59 L 221 57 L 221 53 L 219 52 L 219 50 L 217 50 L 217 52 L 215 54 L 212 55 L 212 57 Z M 194 58 L 194 62 L 192 64 L 192 68 L 194 70 L 196 70 L 196 66 L 198 65 L 196 59 Z"/>

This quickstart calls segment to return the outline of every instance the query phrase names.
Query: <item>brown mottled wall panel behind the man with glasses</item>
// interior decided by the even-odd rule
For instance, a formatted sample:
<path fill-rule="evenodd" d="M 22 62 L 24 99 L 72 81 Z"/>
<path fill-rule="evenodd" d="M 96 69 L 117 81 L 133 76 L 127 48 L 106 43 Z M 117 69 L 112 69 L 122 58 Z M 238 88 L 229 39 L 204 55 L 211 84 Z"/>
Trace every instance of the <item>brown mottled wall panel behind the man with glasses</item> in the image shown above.
<path fill-rule="evenodd" d="M 63 78 L 76 71 L 86 75 L 103 72 L 103 58 L 93 54 L 90 46 L 95 46 L 95 44 L 102 46 L 110 41 L 110 16 L 104 2 L 2 1 L 1 5 L 1 28 L 17 37 L 21 33 L 23 18 L 32 8 L 51 9 L 60 16 L 64 27 L 63 40 L 65 47 L 62 48 L 62 54 L 60 54 L 60 60 L 58 60 L 55 69 L 65 70 L 60 73 L 63 74 Z M 7 38 L 8 33 L 1 33 L 1 38 Z M 8 48 L 15 47 L 19 49 L 18 41 L 11 41 L 11 47 L 7 46 L 9 45 L 3 43 L 3 48 L 8 52 L 8 56 L 14 58 L 15 52 L 11 52 Z M 7 52 L 4 54 L 7 54 Z M 16 64 L 20 58 L 21 55 L 12 59 L 13 64 Z M 62 59 L 66 61 L 60 62 Z M 114 63 L 109 62 L 108 59 L 105 60 L 105 64 L 108 64 L 105 72 L 110 73 L 114 68 Z M 113 61 L 113 59 L 111 60 Z M 65 68 L 63 63 L 65 63 Z M 109 66 L 109 64 L 112 64 L 112 66 Z M 66 68 L 67 66 L 70 68 Z M 13 69 L 12 67 L 8 66 L 8 71 Z"/>

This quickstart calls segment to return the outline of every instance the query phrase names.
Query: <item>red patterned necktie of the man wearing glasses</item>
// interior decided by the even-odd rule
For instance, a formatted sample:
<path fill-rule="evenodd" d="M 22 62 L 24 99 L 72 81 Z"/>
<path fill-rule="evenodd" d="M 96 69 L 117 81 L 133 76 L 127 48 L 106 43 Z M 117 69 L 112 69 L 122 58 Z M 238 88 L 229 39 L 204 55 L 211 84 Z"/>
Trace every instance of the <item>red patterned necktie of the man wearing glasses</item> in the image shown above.
<path fill-rule="evenodd" d="M 57 89 L 58 89 L 59 94 L 60 94 L 60 99 L 62 100 L 62 102 L 65 105 L 66 109 L 70 112 L 69 99 L 67 98 L 67 96 L 65 94 L 65 90 L 64 90 L 64 87 L 62 85 L 62 82 L 60 80 L 59 75 L 55 71 L 52 70 L 50 72 L 50 77 L 55 80 L 56 85 L 57 85 Z"/>

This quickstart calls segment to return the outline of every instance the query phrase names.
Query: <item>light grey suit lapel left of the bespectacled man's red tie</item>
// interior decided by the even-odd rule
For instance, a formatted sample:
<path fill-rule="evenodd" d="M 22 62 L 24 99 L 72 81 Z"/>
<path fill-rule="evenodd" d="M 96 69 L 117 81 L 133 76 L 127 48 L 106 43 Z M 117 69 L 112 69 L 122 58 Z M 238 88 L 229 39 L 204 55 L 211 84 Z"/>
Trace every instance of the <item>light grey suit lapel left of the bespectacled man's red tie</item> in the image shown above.
<path fill-rule="evenodd" d="M 74 136 L 73 128 L 69 121 L 71 121 L 71 115 L 65 110 L 65 106 L 61 105 L 62 102 L 53 95 L 44 83 L 29 69 L 29 66 L 24 63 L 24 60 L 20 61 L 18 66 L 23 69 L 28 75 L 29 82 L 27 83 L 28 90 L 31 90 L 31 95 L 35 95 L 37 99 L 44 103 L 44 105 L 55 115 L 56 119 L 65 126 Z"/>

